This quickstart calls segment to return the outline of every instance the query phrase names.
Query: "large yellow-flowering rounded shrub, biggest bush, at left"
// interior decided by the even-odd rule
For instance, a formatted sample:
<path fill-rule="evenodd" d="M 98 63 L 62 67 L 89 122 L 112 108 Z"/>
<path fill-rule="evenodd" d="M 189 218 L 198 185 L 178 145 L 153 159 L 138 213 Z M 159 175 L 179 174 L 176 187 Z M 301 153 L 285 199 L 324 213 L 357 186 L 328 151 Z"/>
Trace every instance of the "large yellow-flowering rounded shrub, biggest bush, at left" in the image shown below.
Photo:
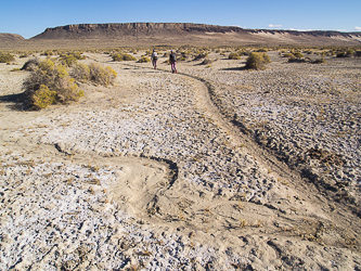
<path fill-rule="evenodd" d="M 83 95 L 67 68 L 55 65 L 51 60 L 40 62 L 24 81 L 23 88 L 23 102 L 34 109 L 41 109 L 55 102 L 78 101 Z"/>

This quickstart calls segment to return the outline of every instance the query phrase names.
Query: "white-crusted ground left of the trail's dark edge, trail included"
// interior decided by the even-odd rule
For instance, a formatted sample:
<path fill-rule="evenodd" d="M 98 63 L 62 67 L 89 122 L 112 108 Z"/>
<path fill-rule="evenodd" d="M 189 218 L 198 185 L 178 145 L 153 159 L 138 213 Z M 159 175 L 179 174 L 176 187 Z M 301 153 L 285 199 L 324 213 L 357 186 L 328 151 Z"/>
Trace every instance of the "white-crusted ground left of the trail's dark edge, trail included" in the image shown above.
<path fill-rule="evenodd" d="M 117 87 L 40 113 L 2 105 L 2 269 L 360 268 L 359 220 L 273 172 L 204 83 L 92 57 Z"/>

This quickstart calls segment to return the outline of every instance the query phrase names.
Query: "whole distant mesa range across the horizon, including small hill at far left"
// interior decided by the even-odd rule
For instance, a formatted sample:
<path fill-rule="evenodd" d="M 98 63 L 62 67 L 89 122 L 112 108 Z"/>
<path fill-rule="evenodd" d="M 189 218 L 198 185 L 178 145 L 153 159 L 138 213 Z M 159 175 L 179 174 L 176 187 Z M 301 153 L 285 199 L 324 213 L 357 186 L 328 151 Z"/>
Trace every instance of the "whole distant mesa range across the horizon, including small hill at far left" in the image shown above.
<path fill-rule="evenodd" d="M 47 28 L 27 39 L 0 34 L 0 49 L 113 46 L 360 46 L 361 33 L 244 29 L 192 23 L 78 24 Z"/>

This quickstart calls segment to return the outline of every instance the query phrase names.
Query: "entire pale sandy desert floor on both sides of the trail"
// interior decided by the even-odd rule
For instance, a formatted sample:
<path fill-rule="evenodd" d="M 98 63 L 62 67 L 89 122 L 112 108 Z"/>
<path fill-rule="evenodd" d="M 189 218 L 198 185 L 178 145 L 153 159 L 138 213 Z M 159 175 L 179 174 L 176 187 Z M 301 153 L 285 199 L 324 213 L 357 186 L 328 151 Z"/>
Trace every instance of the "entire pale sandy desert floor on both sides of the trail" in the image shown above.
<path fill-rule="evenodd" d="M 361 63 L 270 55 L 88 53 L 117 85 L 41 112 L 15 102 L 26 59 L 0 64 L 0 269 L 360 270 Z"/>

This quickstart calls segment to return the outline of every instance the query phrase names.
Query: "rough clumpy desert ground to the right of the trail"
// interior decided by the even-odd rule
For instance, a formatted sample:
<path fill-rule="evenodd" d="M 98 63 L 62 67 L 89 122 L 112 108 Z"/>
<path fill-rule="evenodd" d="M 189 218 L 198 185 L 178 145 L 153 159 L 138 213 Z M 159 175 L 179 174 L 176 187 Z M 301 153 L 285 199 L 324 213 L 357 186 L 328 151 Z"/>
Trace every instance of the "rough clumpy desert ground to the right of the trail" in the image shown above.
<path fill-rule="evenodd" d="M 192 70 L 211 82 L 221 113 L 291 167 L 360 204 L 360 63 L 285 63 L 262 72 Z"/>

